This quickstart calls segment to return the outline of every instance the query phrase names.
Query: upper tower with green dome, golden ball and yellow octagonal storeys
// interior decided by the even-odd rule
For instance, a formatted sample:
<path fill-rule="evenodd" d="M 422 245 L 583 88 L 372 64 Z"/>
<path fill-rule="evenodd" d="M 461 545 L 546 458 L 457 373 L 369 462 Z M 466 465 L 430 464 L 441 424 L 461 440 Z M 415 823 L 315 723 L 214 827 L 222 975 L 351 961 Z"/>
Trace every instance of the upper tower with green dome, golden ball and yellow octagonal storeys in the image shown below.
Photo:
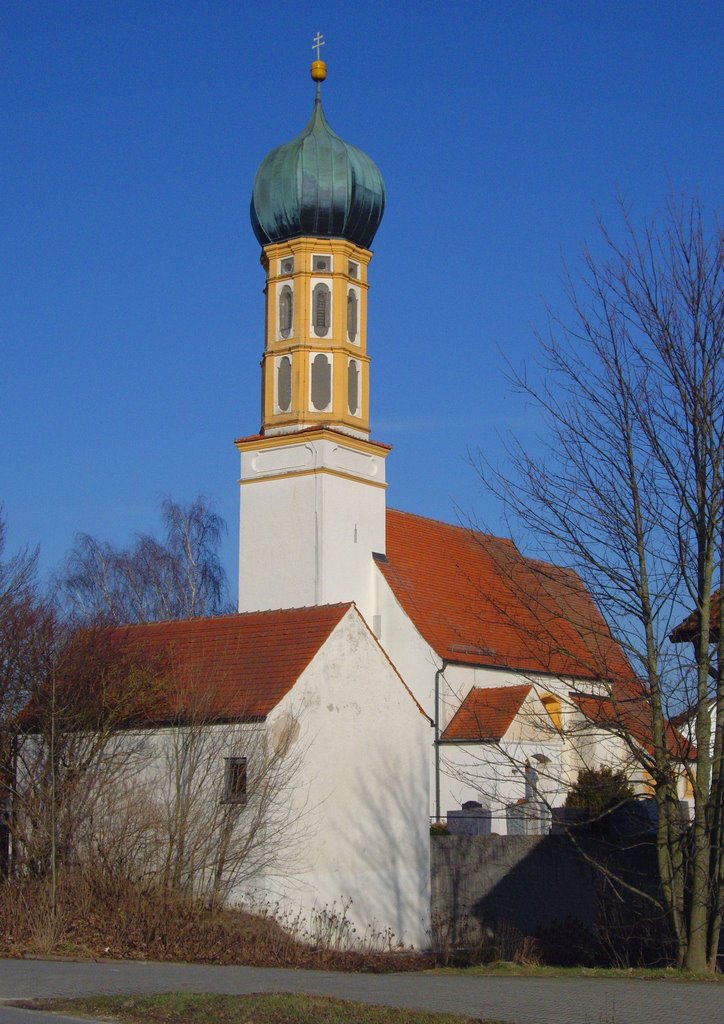
<path fill-rule="evenodd" d="M 322 45 L 322 44 L 320 44 Z M 382 220 L 377 165 L 343 142 L 322 109 L 254 180 L 251 221 L 266 271 L 261 432 L 326 424 L 369 436 L 367 270 Z"/>

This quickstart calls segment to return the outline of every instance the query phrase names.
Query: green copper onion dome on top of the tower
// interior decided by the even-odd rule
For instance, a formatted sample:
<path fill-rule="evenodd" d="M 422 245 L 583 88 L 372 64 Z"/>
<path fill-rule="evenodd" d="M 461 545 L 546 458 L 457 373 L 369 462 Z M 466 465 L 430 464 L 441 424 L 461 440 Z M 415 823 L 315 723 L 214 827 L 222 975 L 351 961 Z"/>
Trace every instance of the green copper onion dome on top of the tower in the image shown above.
<path fill-rule="evenodd" d="M 256 172 L 251 222 L 259 243 L 308 234 L 369 249 L 384 209 L 377 164 L 332 131 L 317 92 L 306 128 Z"/>

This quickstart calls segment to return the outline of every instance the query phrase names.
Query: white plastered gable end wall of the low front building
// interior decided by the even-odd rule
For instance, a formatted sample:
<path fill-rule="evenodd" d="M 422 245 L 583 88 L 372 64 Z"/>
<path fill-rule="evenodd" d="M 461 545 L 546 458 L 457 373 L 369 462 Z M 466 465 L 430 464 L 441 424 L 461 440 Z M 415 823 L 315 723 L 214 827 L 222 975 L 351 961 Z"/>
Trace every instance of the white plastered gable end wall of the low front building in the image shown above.
<path fill-rule="evenodd" d="M 292 800 L 305 842 L 278 889 L 310 914 L 352 900 L 364 934 L 429 942 L 431 728 L 354 609 L 269 718 L 298 715 L 305 787 Z"/>

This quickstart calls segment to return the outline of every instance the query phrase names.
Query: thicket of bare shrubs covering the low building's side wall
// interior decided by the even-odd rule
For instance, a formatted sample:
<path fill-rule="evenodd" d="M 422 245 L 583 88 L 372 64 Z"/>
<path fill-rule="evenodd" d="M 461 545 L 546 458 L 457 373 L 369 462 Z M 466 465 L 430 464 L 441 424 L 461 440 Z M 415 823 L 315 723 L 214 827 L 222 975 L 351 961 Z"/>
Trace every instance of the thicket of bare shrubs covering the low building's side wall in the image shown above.
<path fill-rule="evenodd" d="M 132 630 L 62 633 L 15 745 L 14 872 L 54 890 L 56 869 L 73 866 L 211 905 L 289 876 L 299 722 L 268 729 L 229 709 L 224 682 Z"/>

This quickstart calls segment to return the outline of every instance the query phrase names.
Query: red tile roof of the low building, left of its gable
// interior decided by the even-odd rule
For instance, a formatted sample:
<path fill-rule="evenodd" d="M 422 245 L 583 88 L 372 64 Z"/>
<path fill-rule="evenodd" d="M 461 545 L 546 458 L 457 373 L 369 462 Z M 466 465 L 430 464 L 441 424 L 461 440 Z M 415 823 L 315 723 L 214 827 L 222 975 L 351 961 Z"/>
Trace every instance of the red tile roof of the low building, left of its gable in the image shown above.
<path fill-rule="evenodd" d="M 158 712 L 264 718 L 289 693 L 352 604 L 329 604 L 114 630 L 132 649 L 160 659 Z"/>

